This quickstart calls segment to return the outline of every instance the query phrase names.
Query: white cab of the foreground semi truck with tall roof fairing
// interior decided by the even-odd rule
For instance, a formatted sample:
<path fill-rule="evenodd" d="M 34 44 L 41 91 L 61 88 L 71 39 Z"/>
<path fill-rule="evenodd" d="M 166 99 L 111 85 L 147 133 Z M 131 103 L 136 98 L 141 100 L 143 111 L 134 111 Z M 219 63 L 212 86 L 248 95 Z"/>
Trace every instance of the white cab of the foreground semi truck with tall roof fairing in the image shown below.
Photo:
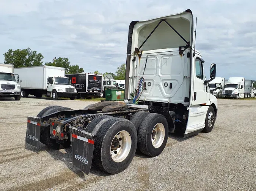
<path fill-rule="evenodd" d="M 215 79 L 216 64 L 206 80 L 206 63 L 194 45 L 190 9 L 129 26 L 125 102 L 148 105 L 150 112 L 173 119 L 169 131 L 181 130 L 184 137 L 210 131 L 217 117 L 217 99 L 208 86 Z"/>

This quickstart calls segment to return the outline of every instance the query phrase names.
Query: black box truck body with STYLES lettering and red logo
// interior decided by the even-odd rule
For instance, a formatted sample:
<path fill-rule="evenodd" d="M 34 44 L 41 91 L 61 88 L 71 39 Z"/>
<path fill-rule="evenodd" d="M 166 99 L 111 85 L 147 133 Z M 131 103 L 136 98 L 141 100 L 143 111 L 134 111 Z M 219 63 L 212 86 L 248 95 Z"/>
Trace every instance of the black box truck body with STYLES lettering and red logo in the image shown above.
<path fill-rule="evenodd" d="M 101 74 L 66 74 L 69 82 L 77 90 L 77 98 L 90 98 L 103 96 L 103 79 Z"/>

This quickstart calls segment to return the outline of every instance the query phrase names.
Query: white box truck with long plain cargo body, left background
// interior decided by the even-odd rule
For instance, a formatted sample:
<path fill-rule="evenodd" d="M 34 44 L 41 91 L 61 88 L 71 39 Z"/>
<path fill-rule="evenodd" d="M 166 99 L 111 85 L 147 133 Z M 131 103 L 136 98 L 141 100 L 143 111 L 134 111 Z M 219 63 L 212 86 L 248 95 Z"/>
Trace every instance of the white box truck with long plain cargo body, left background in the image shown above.
<path fill-rule="evenodd" d="M 46 95 L 53 100 L 58 100 L 58 97 L 69 97 L 74 100 L 77 96 L 77 90 L 65 77 L 64 68 L 42 65 L 14 68 L 14 71 L 22 80 L 20 83 L 22 97 L 28 97 L 30 94 L 35 97 Z"/>

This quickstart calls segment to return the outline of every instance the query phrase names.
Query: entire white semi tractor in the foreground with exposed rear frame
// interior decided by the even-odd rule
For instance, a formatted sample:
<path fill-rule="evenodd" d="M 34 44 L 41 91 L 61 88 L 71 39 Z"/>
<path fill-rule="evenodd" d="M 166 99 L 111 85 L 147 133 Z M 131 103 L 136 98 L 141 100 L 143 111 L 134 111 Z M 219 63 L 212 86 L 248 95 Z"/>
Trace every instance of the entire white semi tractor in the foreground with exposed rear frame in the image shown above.
<path fill-rule="evenodd" d="M 155 157 L 168 132 L 184 137 L 210 132 L 217 117 L 217 99 L 205 80 L 204 60 L 193 48 L 192 12 L 129 26 L 124 102 L 98 102 L 72 110 L 49 106 L 27 117 L 25 142 L 59 149 L 71 145 L 72 164 L 88 174 L 91 165 L 110 174 L 124 171 L 136 151 Z M 216 84 L 220 87 L 220 83 Z"/>

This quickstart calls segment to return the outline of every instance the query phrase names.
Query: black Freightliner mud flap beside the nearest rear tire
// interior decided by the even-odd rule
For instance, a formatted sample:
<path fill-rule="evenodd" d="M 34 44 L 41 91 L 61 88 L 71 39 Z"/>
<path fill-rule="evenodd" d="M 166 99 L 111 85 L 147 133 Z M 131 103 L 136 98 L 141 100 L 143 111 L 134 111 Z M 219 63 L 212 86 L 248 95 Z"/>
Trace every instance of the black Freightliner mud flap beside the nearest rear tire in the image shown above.
<path fill-rule="evenodd" d="M 72 164 L 89 174 L 93 160 L 94 140 L 72 134 Z"/>

